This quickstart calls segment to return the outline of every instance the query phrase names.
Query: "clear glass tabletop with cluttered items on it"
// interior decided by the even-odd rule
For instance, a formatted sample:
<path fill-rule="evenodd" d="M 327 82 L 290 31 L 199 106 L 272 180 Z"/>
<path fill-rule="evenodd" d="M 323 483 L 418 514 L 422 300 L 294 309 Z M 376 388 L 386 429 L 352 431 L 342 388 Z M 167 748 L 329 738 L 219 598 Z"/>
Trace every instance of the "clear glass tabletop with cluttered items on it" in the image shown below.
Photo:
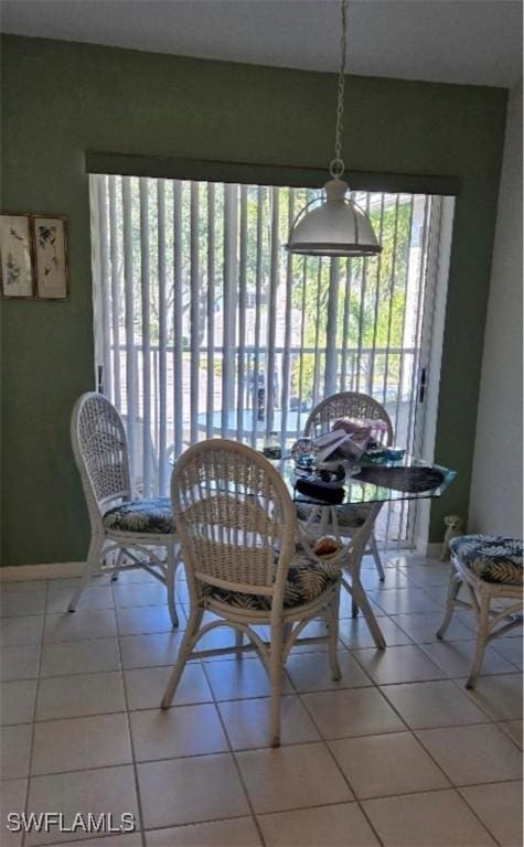
<path fill-rule="evenodd" d="M 274 467 L 280 472 L 292 498 L 299 503 L 314 505 L 331 505 L 325 500 L 297 490 L 300 479 L 308 481 L 322 480 L 319 471 L 304 471 L 296 468 L 290 455 L 274 461 Z M 336 505 L 356 505 L 359 503 L 386 503 L 396 500 L 423 500 L 439 497 L 455 480 L 457 473 L 438 464 L 424 462 L 416 457 L 405 455 L 400 460 L 384 460 L 381 462 L 366 460 L 364 457 L 357 464 L 340 463 L 345 471 L 345 479 L 339 481 L 343 490 L 343 500 Z M 329 474 L 324 473 L 324 478 Z M 334 473 L 330 474 L 334 476 Z"/>

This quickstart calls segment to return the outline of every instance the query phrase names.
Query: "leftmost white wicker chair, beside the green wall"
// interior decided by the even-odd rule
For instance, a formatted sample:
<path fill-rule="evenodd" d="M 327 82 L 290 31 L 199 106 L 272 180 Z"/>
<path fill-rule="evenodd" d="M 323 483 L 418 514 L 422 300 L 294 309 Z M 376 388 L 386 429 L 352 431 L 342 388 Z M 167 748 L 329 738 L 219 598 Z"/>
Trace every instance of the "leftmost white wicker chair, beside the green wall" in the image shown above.
<path fill-rule="evenodd" d="M 165 585 L 171 621 L 178 626 L 178 540 L 169 497 L 132 498 L 124 424 L 101 394 L 89 393 L 78 398 L 71 418 L 71 440 L 89 513 L 92 539 L 69 612 L 75 611 L 94 573 L 117 576 L 120 570 L 143 568 Z M 115 564 L 104 567 L 104 560 L 109 558 Z"/>

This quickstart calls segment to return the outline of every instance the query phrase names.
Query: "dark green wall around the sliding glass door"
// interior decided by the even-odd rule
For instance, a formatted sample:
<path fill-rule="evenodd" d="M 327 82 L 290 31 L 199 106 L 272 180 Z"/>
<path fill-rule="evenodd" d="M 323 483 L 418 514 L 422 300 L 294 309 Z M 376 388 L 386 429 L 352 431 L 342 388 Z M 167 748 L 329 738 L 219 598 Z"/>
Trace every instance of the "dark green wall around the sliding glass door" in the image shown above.
<path fill-rule="evenodd" d="M 2 309 L 3 565 L 85 557 L 69 447 L 94 387 L 88 150 L 324 168 L 332 75 L 41 39 L 2 39 L 2 210 L 69 218 L 71 301 Z M 460 179 L 436 459 L 459 471 L 432 507 L 466 513 L 506 92 L 349 77 L 344 152 L 355 171 Z"/>

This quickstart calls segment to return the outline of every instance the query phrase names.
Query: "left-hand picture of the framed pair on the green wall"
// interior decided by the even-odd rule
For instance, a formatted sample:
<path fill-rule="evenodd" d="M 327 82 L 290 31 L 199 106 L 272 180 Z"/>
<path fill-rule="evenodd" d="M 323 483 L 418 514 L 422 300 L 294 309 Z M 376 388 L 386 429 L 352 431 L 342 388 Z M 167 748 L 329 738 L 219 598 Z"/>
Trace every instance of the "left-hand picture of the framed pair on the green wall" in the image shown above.
<path fill-rule="evenodd" d="M 29 215 L 0 215 L 0 277 L 3 297 L 33 297 Z"/>

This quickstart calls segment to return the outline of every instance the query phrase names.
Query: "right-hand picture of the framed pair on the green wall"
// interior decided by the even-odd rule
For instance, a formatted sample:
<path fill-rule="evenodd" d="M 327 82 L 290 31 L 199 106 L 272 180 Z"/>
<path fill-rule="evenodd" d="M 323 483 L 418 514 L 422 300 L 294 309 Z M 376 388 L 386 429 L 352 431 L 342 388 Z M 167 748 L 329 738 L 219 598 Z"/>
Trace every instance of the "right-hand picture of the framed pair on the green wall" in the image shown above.
<path fill-rule="evenodd" d="M 65 217 L 33 215 L 36 297 L 65 300 L 67 281 L 67 226 Z"/>

